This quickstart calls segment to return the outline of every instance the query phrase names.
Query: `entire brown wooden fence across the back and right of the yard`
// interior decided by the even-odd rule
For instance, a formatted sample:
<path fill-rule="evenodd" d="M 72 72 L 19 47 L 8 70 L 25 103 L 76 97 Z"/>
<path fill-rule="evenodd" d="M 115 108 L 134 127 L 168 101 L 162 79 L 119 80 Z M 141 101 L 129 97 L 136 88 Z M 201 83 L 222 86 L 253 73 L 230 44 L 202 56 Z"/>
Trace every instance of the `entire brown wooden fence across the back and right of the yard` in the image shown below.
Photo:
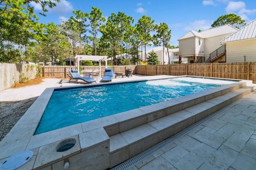
<path fill-rule="evenodd" d="M 99 70 L 99 66 L 82 66 L 83 70 Z M 70 69 L 75 66 L 44 66 L 43 77 L 67 78 Z M 172 64 L 172 65 L 116 65 L 113 69 L 117 73 L 125 73 L 131 69 L 133 74 L 142 75 L 195 75 L 226 79 L 244 79 L 256 82 L 256 62 L 246 63 L 200 63 L 200 64 Z M 101 76 L 105 66 L 101 66 Z"/>

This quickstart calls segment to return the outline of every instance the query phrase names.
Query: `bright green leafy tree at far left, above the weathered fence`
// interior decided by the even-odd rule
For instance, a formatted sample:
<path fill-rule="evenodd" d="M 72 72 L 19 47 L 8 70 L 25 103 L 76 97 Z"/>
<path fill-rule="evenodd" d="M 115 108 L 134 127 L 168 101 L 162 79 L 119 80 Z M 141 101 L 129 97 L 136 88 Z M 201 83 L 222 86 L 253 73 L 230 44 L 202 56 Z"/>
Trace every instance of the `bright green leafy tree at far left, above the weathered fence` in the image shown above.
<path fill-rule="evenodd" d="M 0 62 L 23 61 L 21 49 L 25 48 L 25 55 L 27 55 L 30 40 L 37 40 L 38 35 L 42 35 L 43 24 L 37 22 L 38 18 L 34 14 L 31 3 L 41 5 L 40 14 L 46 15 L 47 7 L 54 7 L 58 2 L 59 0 L 0 1 Z"/>

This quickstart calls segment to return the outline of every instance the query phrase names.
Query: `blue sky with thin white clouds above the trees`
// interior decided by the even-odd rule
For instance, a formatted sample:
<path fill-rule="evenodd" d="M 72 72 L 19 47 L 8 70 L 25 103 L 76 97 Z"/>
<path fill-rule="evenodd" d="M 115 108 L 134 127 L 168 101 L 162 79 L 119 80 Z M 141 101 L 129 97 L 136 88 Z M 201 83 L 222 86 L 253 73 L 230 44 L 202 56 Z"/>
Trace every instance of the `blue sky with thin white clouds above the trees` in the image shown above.
<path fill-rule="evenodd" d="M 38 5 L 33 4 L 36 12 L 40 11 Z M 236 13 L 246 22 L 256 19 L 256 0 L 229 1 L 229 0 L 61 0 L 57 7 L 49 10 L 47 16 L 39 16 L 42 23 L 61 23 L 73 15 L 73 10 L 89 13 L 91 6 L 100 8 L 103 16 L 118 11 L 130 15 L 137 22 L 143 15 L 148 15 L 155 23 L 166 22 L 172 30 L 171 44 L 178 45 L 177 39 L 189 30 L 209 29 L 211 23 L 219 16 L 227 13 Z"/>

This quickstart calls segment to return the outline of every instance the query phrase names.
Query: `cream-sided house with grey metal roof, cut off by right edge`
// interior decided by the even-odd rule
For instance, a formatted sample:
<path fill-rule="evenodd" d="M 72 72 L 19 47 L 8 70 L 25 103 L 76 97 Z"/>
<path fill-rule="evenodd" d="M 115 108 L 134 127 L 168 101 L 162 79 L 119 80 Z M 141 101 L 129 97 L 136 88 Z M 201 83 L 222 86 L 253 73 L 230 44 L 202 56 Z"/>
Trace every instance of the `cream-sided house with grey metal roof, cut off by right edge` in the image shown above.
<path fill-rule="evenodd" d="M 227 62 L 256 61 L 256 19 L 220 41 L 226 46 Z"/>

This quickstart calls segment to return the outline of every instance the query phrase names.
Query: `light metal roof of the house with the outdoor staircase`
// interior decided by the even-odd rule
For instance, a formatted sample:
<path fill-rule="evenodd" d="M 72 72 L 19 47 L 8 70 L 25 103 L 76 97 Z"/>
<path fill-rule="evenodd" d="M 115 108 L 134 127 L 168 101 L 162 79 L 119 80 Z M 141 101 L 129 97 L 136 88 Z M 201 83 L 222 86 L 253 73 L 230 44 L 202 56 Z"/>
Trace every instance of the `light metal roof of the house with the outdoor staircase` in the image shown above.
<path fill-rule="evenodd" d="M 185 38 L 190 38 L 190 37 L 199 37 L 199 38 L 210 38 L 210 37 L 215 37 L 215 36 L 221 36 L 221 35 L 226 35 L 228 33 L 234 33 L 238 29 L 233 27 L 232 25 L 222 25 L 217 28 L 211 28 L 209 30 L 197 32 L 194 30 L 190 30 L 187 32 L 184 36 L 179 38 L 178 40 L 185 39 Z"/>

